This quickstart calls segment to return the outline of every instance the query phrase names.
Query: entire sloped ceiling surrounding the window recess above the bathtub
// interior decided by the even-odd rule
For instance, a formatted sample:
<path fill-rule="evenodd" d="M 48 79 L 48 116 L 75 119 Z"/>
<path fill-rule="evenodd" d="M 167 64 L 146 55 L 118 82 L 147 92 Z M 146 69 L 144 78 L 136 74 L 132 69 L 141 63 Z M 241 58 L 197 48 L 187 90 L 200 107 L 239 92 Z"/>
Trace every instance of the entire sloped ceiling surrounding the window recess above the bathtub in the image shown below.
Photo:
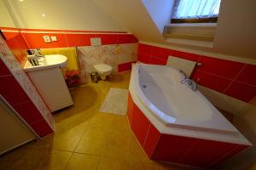
<path fill-rule="evenodd" d="M 256 59 L 256 1 L 222 0 L 212 48 L 166 42 L 142 0 L 94 0 L 113 20 L 131 31 L 140 41 L 158 42 L 216 54 Z"/>

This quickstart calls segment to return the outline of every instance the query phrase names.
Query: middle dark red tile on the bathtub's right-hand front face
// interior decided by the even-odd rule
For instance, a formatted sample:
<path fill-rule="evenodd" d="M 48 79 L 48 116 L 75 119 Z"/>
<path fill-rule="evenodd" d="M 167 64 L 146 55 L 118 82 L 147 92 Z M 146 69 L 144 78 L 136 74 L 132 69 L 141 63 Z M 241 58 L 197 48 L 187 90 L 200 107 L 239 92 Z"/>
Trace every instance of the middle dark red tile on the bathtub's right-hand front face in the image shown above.
<path fill-rule="evenodd" d="M 197 167 L 211 167 L 212 163 L 224 157 L 236 144 L 199 139 L 195 146 L 183 157 L 181 163 Z"/>

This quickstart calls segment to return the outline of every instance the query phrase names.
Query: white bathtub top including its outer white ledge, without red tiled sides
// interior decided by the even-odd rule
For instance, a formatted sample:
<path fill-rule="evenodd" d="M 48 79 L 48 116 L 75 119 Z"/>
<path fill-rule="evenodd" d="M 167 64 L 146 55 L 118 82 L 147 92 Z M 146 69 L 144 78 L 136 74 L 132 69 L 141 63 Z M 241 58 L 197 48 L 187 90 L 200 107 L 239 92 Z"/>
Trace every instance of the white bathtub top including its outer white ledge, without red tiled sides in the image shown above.
<path fill-rule="evenodd" d="M 164 65 L 132 67 L 132 99 L 160 133 L 250 144 L 201 93 L 188 88 L 176 69 Z"/>

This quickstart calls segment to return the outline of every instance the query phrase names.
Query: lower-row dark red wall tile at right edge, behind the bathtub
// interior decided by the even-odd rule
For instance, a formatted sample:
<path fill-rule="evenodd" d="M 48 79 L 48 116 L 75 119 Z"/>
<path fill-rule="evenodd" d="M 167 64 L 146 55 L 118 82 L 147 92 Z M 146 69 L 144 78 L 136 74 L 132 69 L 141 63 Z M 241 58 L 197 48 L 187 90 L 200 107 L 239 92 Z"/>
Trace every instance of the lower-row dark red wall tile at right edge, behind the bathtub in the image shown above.
<path fill-rule="evenodd" d="M 249 102 L 256 95 L 256 87 L 241 82 L 232 82 L 225 94 Z"/>

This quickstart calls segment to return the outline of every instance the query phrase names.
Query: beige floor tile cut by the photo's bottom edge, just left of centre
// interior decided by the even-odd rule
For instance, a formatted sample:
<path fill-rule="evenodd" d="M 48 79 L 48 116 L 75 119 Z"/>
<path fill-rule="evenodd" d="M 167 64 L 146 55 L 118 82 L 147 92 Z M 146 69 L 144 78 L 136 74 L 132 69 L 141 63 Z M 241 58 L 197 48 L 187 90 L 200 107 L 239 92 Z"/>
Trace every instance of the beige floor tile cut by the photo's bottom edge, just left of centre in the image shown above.
<path fill-rule="evenodd" d="M 128 162 L 122 159 L 102 157 L 98 170 L 128 170 Z"/>

